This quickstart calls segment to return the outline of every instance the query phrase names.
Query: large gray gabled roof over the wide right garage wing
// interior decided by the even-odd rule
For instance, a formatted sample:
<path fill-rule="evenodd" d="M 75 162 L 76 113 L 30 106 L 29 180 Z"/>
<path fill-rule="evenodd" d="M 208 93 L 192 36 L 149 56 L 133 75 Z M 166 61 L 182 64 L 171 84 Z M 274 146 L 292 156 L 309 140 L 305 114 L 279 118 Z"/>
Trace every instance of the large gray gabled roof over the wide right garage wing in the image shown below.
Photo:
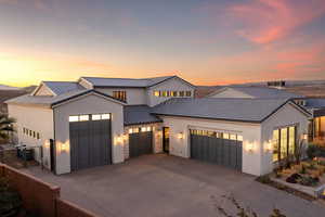
<path fill-rule="evenodd" d="M 155 106 L 152 113 L 167 116 L 262 123 L 288 102 L 290 101 L 286 99 L 171 99 Z M 298 107 L 294 103 L 292 105 L 310 115 L 302 107 Z"/>

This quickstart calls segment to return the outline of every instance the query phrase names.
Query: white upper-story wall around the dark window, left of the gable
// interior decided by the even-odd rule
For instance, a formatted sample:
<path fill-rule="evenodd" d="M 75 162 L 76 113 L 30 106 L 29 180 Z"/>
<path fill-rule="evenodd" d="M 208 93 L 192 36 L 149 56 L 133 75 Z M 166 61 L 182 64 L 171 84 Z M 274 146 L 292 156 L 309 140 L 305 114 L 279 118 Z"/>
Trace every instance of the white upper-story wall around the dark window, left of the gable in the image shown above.
<path fill-rule="evenodd" d="M 113 95 L 113 91 L 127 91 L 127 103 L 129 105 L 146 104 L 145 88 L 96 88 L 95 90 Z"/>

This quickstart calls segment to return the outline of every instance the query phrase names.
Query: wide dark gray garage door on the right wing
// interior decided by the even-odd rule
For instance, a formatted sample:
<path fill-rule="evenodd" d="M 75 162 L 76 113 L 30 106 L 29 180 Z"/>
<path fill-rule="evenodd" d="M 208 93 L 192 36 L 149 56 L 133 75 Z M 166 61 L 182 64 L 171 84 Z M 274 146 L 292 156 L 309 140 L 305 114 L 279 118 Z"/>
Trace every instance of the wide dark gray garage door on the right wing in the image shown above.
<path fill-rule="evenodd" d="M 242 170 L 242 150 L 237 135 L 191 130 L 191 158 Z"/>

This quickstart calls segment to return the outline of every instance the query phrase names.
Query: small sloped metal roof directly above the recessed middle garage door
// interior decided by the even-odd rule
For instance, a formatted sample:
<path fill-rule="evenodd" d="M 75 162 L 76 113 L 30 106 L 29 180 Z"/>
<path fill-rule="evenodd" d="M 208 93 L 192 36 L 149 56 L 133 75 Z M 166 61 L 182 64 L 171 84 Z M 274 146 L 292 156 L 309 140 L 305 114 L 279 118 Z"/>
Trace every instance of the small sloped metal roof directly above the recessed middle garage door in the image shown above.
<path fill-rule="evenodd" d="M 152 107 L 147 105 L 127 105 L 123 107 L 125 125 L 140 125 L 162 122 L 151 114 Z"/>

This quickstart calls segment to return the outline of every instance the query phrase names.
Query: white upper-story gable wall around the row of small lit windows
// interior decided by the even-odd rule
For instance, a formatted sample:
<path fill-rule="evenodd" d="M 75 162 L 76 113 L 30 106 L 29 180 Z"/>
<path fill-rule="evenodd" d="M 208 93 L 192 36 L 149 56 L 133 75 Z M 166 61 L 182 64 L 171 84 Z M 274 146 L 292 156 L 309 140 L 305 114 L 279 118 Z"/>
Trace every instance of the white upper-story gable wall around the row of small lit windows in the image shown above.
<path fill-rule="evenodd" d="M 160 104 L 161 102 L 165 102 L 166 100 L 169 100 L 170 98 L 161 98 L 161 97 L 155 97 L 154 91 L 192 91 L 192 98 L 194 97 L 195 89 L 190 86 L 188 84 L 184 82 L 183 80 L 179 78 L 172 78 L 169 80 L 166 80 L 159 85 L 156 85 L 154 87 L 151 87 L 147 89 L 147 105 L 148 106 L 155 106 L 157 104 Z"/>

